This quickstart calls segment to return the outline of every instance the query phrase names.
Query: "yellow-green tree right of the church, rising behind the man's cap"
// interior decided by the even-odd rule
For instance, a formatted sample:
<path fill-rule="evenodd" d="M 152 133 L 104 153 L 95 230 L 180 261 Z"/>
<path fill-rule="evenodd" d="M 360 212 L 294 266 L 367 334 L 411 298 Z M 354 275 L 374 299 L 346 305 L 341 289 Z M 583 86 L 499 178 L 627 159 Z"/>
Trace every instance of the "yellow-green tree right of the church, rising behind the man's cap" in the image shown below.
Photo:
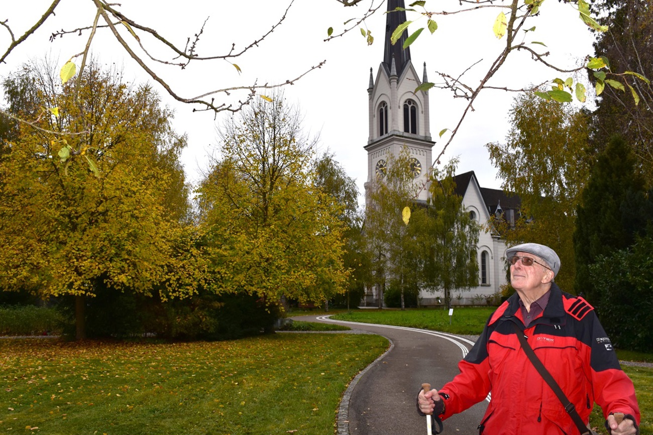
<path fill-rule="evenodd" d="M 505 144 L 486 144 L 503 189 L 521 200 L 515 227 L 498 220 L 492 225 L 509 245 L 537 242 L 553 248 L 563 265 L 556 282 L 565 291 L 573 288 L 576 207 L 594 158 L 587 121 L 580 110 L 520 94 L 510 111 Z"/>

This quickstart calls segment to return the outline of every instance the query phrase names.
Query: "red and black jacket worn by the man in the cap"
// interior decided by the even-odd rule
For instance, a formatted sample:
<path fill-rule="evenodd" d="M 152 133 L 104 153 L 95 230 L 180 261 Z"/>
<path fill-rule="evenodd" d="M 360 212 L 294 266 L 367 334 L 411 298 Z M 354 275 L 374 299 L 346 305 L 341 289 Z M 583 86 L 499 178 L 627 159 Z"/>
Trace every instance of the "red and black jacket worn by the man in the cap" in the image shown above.
<path fill-rule="evenodd" d="M 460 374 L 439 390 L 445 400 L 443 420 L 491 392 L 481 433 L 579 433 L 521 348 L 511 325 L 517 323 L 583 421 L 588 421 L 596 402 L 604 417 L 623 412 L 639 425 L 633 383 L 621 370 L 594 308 L 583 298 L 562 292 L 555 283 L 550 291 L 549 304 L 528 328 L 524 328 L 517 294 L 490 316 L 479 340 L 458 364 Z"/>

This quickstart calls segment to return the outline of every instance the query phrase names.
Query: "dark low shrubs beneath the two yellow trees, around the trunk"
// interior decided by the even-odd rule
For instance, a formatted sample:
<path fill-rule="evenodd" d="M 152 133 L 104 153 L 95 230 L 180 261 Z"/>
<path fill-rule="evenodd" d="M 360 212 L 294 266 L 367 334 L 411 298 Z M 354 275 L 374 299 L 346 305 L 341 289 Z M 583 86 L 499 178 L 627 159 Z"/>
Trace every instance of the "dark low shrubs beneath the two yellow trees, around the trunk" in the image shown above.
<path fill-rule="evenodd" d="M 229 340 L 272 332 L 278 308 L 252 295 L 199 295 L 165 302 L 157 296 L 96 287 L 86 298 L 88 338 L 155 337 L 172 341 Z M 74 297 L 59 298 L 74 336 Z"/>

